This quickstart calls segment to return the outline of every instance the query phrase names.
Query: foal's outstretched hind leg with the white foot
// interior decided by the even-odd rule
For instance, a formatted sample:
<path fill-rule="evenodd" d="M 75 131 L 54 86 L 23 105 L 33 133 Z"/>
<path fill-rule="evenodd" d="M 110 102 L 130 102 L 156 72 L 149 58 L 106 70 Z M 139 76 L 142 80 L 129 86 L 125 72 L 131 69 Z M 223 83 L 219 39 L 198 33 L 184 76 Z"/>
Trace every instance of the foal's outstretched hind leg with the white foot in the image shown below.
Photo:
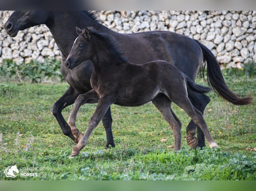
<path fill-rule="evenodd" d="M 186 95 L 186 92 L 184 92 L 182 94 L 182 92 L 180 92 L 180 95 Z M 203 133 L 205 134 L 205 137 L 208 141 L 209 146 L 212 148 L 213 146 L 217 146 L 217 143 L 215 142 L 215 140 L 213 139 L 207 124 L 204 120 L 203 114 L 197 110 L 192 103 L 190 102 L 190 100 L 188 99 L 187 96 L 176 96 L 175 98 L 171 99 L 174 103 L 176 103 L 179 107 L 181 107 L 191 118 L 192 120 L 201 128 L 201 130 L 203 131 Z"/>

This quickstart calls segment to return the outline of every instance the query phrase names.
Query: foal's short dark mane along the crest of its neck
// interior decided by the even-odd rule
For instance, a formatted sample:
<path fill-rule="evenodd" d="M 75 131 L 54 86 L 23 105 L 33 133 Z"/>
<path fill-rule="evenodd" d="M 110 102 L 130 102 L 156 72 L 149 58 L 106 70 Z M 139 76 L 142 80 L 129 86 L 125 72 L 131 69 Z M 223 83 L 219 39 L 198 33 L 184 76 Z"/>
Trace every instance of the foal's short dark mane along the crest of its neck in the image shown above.
<path fill-rule="evenodd" d="M 84 33 L 85 29 L 83 30 Z M 118 44 L 115 42 L 112 36 L 107 33 L 101 33 L 96 29 L 90 30 L 92 35 L 95 35 L 100 38 L 106 45 L 106 49 L 110 50 L 110 54 L 113 56 L 115 60 L 119 60 L 121 62 L 129 62 L 126 57 L 123 56 L 123 52 L 118 48 Z"/>

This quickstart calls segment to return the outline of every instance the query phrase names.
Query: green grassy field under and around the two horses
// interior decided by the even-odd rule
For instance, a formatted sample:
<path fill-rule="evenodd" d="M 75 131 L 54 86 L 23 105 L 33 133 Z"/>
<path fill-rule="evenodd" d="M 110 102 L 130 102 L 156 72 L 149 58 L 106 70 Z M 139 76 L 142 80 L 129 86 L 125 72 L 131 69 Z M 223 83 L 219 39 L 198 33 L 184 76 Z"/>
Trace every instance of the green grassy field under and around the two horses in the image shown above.
<path fill-rule="evenodd" d="M 256 96 L 255 78 L 225 78 L 237 94 Z M 197 83 L 203 80 L 198 78 Z M 182 149 L 177 152 L 171 129 L 152 103 L 113 105 L 116 147 L 104 150 L 106 135 L 100 123 L 79 156 L 70 158 L 76 144 L 62 134 L 51 113 L 67 88 L 67 83 L 0 83 L 0 180 L 256 180 L 256 151 L 246 149 L 256 147 L 256 99 L 235 106 L 208 94 L 211 102 L 204 116 L 220 149 L 208 144 L 202 150 L 190 149 L 185 140 L 190 118 L 173 104 L 182 122 Z M 95 107 L 81 107 L 77 127 L 82 132 Z M 71 109 L 63 110 L 66 119 Z M 17 177 L 5 176 L 9 165 L 17 165 Z"/>

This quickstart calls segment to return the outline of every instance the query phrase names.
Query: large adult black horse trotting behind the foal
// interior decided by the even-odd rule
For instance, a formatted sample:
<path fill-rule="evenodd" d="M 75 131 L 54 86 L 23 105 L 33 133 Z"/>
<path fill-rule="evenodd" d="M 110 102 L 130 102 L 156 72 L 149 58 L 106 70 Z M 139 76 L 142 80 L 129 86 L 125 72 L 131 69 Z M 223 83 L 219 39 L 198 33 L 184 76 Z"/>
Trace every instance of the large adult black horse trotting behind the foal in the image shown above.
<path fill-rule="evenodd" d="M 52 33 L 62 55 L 62 75 L 70 84 L 65 94 L 54 103 L 53 115 L 56 117 L 63 133 L 72 138 L 76 143 L 83 134 L 77 128 L 70 128 L 63 118 L 61 111 L 68 105 L 73 104 L 78 95 L 85 94 L 92 89 L 90 84 L 92 64 L 90 61 L 86 61 L 74 70 L 68 70 L 64 66 L 73 42 L 78 36 L 75 27 L 85 28 L 94 26 L 98 31 L 110 34 L 118 42 L 119 48 L 124 50 L 124 56 L 134 64 L 166 60 L 173 63 L 193 81 L 195 81 L 202 64 L 202 69 L 204 69 L 207 62 L 208 84 L 218 95 L 237 105 L 245 105 L 251 102 L 251 97 L 240 98 L 239 95 L 229 90 L 221 74 L 219 63 L 212 52 L 200 42 L 184 35 L 169 31 L 120 34 L 102 25 L 95 14 L 88 11 L 14 11 L 5 23 L 5 30 L 10 37 L 15 37 L 19 30 L 40 24 L 45 24 Z M 189 98 L 193 105 L 202 113 L 210 101 L 210 98 L 205 94 L 196 94 Z M 106 147 L 109 145 L 114 147 L 110 108 L 102 121 L 107 135 Z M 198 140 L 194 136 L 196 124 L 193 120 L 188 124 L 186 131 L 188 145 L 192 147 L 197 145 L 200 147 L 205 146 L 205 136 L 200 128 L 197 128 Z"/>

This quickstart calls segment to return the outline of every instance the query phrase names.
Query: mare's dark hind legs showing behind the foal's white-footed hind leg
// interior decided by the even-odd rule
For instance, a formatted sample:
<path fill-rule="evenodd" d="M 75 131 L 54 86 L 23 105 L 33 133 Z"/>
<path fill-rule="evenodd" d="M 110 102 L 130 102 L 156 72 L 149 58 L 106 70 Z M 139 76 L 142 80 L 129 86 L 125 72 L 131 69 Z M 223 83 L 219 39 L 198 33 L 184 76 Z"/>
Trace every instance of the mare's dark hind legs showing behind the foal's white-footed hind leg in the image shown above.
<path fill-rule="evenodd" d="M 205 94 L 199 94 L 193 91 L 188 92 L 188 97 L 193 105 L 204 114 L 206 105 L 210 102 L 210 98 Z M 197 138 L 195 137 L 197 128 Z M 205 146 L 205 135 L 201 128 L 196 125 L 196 123 L 191 120 L 186 127 L 187 132 L 187 144 L 193 148 L 199 146 L 203 148 Z"/>

